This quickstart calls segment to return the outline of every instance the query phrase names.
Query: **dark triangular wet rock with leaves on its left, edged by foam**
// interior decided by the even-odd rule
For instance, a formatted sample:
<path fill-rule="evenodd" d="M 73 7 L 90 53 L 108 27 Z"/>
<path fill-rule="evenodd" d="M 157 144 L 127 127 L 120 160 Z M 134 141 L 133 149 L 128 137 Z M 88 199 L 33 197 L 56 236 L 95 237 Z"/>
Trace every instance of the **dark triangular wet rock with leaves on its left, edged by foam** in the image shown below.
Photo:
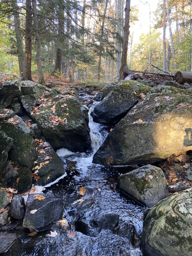
<path fill-rule="evenodd" d="M 45 186 L 65 174 L 65 168 L 61 158 L 56 154 L 51 145 L 45 140 L 42 143 L 43 145 L 40 146 L 40 151 L 44 151 L 45 153 L 37 151 L 37 163 L 35 166 L 41 166 L 42 163 L 48 162 L 38 169 L 38 175 L 40 176 L 38 184 Z M 38 147 L 39 144 L 37 143 L 36 146 Z"/>

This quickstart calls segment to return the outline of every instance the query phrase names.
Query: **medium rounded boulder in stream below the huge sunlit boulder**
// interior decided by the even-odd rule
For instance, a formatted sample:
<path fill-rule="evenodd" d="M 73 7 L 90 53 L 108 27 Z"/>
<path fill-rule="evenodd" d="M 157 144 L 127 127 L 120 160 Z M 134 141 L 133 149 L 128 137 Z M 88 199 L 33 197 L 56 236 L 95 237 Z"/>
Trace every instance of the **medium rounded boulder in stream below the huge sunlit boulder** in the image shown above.
<path fill-rule="evenodd" d="M 118 178 L 120 189 L 147 207 L 169 196 L 163 171 L 156 166 L 145 165 Z"/>

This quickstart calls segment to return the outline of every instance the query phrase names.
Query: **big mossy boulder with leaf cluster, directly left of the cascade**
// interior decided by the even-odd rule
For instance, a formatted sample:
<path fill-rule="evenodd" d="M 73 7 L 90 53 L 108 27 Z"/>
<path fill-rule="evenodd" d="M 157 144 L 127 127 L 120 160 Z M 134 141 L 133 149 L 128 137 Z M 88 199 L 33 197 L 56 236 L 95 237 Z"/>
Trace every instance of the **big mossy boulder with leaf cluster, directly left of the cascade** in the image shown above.
<path fill-rule="evenodd" d="M 60 121 L 56 121 L 59 118 Z M 54 150 L 64 147 L 73 152 L 85 152 L 90 148 L 88 112 L 76 98 L 57 95 L 35 113 L 33 119 Z"/>

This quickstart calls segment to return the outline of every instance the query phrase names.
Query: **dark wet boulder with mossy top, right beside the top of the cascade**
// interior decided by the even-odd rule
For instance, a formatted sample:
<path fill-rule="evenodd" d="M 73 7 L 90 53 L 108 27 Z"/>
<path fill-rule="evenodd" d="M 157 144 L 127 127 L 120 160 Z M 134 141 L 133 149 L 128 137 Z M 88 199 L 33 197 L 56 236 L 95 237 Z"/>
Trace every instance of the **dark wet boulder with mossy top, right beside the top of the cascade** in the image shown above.
<path fill-rule="evenodd" d="M 141 94 L 147 94 L 150 90 L 150 86 L 137 81 L 120 81 L 106 98 L 95 106 L 91 116 L 95 122 L 117 123 L 141 100 Z"/>

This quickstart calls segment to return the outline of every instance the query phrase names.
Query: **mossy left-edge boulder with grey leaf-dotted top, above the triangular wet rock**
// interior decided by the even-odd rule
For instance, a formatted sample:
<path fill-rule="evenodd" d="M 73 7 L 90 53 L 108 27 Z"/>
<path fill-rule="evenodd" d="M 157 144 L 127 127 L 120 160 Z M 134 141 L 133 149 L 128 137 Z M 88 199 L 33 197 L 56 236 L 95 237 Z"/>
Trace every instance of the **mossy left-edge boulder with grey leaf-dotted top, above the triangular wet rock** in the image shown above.
<path fill-rule="evenodd" d="M 6 122 L 0 122 L 0 125 L 1 131 L 13 139 L 9 151 L 10 158 L 22 166 L 31 168 L 36 158 L 35 142 L 30 136 L 31 130 L 17 115 Z"/>

